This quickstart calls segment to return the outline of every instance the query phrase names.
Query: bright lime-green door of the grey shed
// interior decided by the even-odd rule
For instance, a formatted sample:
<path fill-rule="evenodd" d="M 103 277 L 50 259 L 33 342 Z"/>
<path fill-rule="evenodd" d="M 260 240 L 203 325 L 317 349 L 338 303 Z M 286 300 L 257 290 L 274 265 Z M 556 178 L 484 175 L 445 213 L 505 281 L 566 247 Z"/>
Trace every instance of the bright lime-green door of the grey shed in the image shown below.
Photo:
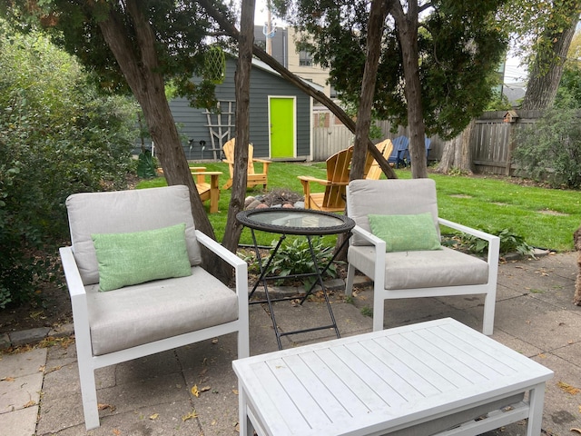
<path fill-rule="evenodd" d="M 295 98 L 269 98 L 271 158 L 295 157 Z"/>

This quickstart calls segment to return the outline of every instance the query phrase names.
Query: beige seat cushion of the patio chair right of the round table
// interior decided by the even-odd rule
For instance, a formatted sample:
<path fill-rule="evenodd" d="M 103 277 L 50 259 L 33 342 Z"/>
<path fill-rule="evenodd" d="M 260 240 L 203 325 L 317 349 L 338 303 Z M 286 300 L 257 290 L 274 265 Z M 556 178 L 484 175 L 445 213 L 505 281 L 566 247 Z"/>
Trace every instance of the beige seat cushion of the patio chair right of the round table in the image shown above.
<path fill-rule="evenodd" d="M 488 264 L 447 247 L 438 251 L 385 253 L 385 289 L 435 288 L 488 282 Z M 375 247 L 351 246 L 348 254 L 360 272 L 373 277 Z"/>

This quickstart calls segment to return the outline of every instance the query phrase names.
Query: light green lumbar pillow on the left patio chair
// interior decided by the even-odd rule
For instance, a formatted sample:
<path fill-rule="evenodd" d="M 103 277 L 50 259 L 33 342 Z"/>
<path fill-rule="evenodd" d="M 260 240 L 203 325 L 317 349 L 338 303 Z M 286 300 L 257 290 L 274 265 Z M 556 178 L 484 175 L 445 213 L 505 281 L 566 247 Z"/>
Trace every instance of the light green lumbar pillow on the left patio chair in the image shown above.
<path fill-rule="evenodd" d="M 97 233 L 91 238 L 99 263 L 101 292 L 192 274 L 185 223 L 145 232 Z"/>

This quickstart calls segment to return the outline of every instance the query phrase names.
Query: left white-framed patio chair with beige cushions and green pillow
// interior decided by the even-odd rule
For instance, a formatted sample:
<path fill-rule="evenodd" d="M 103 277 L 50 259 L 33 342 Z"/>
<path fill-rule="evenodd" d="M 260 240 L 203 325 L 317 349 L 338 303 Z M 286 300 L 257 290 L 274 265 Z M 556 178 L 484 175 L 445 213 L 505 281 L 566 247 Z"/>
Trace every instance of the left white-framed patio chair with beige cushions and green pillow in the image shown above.
<path fill-rule="evenodd" d="M 72 246 L 60 253 L 87 430 L 100 425 L 97 368 L 231 332 L 248 357 L 247 265 L 195 229 L 186 186 L 75 193 L 66 207 Z M 235 290 L 202 268 L 201 246 L 233 267 Z"/>

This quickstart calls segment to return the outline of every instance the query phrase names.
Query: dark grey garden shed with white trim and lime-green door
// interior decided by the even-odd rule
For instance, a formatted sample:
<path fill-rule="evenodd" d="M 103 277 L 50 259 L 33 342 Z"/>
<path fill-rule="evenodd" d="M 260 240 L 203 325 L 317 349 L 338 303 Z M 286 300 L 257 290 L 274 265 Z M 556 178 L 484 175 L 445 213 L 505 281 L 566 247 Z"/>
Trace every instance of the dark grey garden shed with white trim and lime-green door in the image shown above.
<path fill-rule="evenodd" d="M 191 107 L 185 98 L 170 101 L 173 119 L 190 160 L 221 159 L 222 144 L 236 134 L 234 73 L 236 57 L 226 55 L 225 77 L 216 85 L 219 111 Z M 310 83 L 309 83 L 310 84 Z M 310 84 L 315 89 L 322 88 Z M 272 160 L 309 160 L 312 99 L 270 66 L 253 59 L 250 139 L 254 156 Z"/>

